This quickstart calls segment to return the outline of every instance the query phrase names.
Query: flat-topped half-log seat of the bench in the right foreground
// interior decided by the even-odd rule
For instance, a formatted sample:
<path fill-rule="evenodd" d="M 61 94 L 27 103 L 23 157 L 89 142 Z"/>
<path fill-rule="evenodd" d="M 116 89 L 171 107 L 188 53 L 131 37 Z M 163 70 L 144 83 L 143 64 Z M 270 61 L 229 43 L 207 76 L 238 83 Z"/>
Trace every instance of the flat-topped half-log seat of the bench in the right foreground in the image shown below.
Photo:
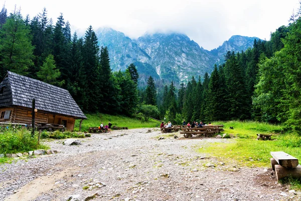
<path fill-rule="evenodd" d="M 297 158 L 283 151 L 271 151 L 271 155 L 279 165 L 286 168 L 295 168 L 299 164 Z"/>

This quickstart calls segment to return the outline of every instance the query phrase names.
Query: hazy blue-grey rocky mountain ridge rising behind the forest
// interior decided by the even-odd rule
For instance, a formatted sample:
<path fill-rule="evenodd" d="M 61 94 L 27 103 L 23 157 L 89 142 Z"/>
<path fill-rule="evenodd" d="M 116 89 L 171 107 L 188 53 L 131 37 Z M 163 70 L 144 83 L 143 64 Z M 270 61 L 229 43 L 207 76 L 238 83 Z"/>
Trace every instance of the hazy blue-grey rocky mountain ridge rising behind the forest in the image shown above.
<path fill-rule="evenodd" d="M 209 51 L 187 35 L 177 32 L 146 33 L 131 39 L 109 27 L 95 31 L 99 46 L 107 46 L 113 71 L 125 70 L 134 63 L 139 72 L 139 86 L 145 86 L 149 76 L 157 85 L 174 81 L 187 82 L 192 76 L 209 74 L 214 64 L 222 64 L 227 51 L 245 51 L 253 47 L 257 37 L 234 35 L 219 47 Z"/>

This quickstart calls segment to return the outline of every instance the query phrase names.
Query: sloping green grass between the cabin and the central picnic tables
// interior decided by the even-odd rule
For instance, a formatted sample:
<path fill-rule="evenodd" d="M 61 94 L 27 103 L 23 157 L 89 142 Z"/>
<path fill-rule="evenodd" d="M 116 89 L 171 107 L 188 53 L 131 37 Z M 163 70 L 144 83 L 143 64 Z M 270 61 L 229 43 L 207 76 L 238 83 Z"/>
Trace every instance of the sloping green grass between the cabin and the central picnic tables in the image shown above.
<path fill-rule="evenodd" d="M 107 114 L 86 114 L 87 120 L 82 122 L 82 131 L 88 131 L 89 127 L 97 127 L 103 122 L 104 125 L 107 125 L 110 121 L 113 126 L 117 127 L 128 127 L 129 129 L 134 128 L 154 128 L 159 127 L 160 122 L 149 119 L 147 122 L 141 122 L 138 118 L 130 118 L 120 115 L 107 115 Z M 79 130 L 80 120 L 75 121 L 74 130 Z"/>

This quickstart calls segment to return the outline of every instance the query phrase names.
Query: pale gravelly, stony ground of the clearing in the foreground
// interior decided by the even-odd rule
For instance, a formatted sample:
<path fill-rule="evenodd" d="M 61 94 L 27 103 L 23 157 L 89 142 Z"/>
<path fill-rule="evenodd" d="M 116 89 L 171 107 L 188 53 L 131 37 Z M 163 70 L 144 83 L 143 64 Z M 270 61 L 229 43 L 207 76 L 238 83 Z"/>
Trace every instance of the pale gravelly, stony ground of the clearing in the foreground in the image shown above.
<path fill-rule="evenodd" d="M 0 200 L 300 200 L 270 169 L 196 151 L 229 139 L 173 134 L 180 138 L 145 128 L 92 134 L 74 146 L 45 142 L 61 152 L 0 165 Z"/>

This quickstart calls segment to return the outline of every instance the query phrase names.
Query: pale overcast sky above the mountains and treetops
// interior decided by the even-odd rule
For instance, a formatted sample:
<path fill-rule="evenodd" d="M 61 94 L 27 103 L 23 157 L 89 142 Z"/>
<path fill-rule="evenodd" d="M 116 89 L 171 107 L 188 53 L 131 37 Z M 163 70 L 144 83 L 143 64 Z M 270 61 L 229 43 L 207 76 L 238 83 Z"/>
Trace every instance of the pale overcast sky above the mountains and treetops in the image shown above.
<path fill-rule="evenodd" d="M 8 13 L 21 8 L 32 19 L 45 7 L 54 23 L 60 13 L 72 32 L 90 25 L 111 27 L 130 38 L 154 32 L 180 32 L 211 50 L 232 35 L 269 40 L 299 9 L 298 0 L 0 0 Z M 80 3 L 78 3 L 80 2 Z"/>

